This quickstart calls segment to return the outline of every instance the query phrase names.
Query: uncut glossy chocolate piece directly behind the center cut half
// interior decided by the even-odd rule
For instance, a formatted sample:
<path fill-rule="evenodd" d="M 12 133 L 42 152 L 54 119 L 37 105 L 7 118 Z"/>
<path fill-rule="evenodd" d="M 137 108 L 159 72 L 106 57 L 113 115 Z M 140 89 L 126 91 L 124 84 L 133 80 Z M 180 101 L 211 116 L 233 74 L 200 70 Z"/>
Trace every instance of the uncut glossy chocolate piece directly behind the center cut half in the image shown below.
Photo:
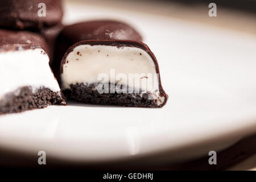
<path fill-rule="evenodd" d="M 93 20 L 64 27 L 57 38 L 53 72 L 59 80 L 60 61 L 73 44 L 82 40 L 135 40 L 142 41 L 141 35 L 133 27 L 115 20 Z"/>

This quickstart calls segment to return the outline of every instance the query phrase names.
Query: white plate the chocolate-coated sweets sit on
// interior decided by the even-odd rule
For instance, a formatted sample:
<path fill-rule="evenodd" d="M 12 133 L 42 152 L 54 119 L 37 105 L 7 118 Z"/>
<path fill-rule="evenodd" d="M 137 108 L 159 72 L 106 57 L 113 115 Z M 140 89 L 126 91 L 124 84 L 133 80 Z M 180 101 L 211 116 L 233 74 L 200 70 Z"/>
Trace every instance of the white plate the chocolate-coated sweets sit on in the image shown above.
<path fill-rule="evenodd" d="M 168 151 L 164 160 L 171 162 L 256 131 L 255 36 L 80 4 L 65 9 L 66 24 L 102 17 L 133 24 L 158 58 L 170 99 L 162 109 L 69 102 L 2 115 L 1 147 L 82 162 Z"/>

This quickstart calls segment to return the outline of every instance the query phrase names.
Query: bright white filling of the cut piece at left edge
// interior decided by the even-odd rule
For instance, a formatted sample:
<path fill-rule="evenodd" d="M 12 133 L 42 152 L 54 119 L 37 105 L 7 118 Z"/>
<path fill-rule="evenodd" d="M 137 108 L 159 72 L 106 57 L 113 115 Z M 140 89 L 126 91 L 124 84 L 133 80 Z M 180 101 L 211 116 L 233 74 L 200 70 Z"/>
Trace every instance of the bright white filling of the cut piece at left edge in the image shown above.
<path fill-rule="evenodd" d="M 32 86 L 34 91 L 40 86 L 60 91 L 43 49 L 0 52 L 0 99 L 22 86 Z"/>

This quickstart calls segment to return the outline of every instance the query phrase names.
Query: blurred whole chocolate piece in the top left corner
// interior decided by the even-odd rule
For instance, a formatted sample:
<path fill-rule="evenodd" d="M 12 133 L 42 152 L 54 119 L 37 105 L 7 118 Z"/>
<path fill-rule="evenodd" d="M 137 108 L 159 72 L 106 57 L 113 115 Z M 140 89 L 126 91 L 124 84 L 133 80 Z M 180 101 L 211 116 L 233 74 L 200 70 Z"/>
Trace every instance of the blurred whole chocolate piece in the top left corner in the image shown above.
<path fill-rule="evenodd" d="M 45 11 L 44 11 L 44 3 Z M 46 13 L 44 16 L 44 13 Z M 61 22 L 61 0 L 0 1 L 0 26 L 18 30 L 41 29 Z"/>

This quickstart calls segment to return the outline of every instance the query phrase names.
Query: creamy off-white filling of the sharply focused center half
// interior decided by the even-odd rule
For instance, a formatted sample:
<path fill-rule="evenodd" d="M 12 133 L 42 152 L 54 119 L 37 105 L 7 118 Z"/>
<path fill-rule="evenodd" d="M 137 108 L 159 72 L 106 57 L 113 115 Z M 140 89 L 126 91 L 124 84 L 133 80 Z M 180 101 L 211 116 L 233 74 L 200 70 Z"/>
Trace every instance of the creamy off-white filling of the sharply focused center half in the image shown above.
<path fill-rule="evenodd" d="M 164 102 L 154 61 L 136 47 L 77 46 L 66 58 L 61 81 L 63 89 L 77 83 L 119 83 L 152 93 L 159 105 Z"/>

